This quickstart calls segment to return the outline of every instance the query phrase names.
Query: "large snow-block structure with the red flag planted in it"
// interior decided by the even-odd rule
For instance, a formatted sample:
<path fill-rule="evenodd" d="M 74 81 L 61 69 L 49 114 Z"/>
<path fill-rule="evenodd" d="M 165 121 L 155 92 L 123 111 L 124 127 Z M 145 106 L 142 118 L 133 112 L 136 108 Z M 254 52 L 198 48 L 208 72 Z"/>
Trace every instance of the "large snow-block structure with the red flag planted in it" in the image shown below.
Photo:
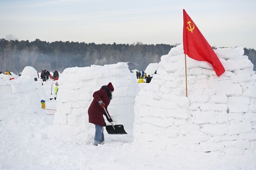
<path fill-rule="evenodd" d="M 242 47 L 217 49 L 225 73 L 187 57 L 183 47 L 161 57 L 157 75 L 135 98 L 135 144 L 240 155 L 256 149 L 256 75 Z M 139 144 L 138 144 L 139 145 Z"/>

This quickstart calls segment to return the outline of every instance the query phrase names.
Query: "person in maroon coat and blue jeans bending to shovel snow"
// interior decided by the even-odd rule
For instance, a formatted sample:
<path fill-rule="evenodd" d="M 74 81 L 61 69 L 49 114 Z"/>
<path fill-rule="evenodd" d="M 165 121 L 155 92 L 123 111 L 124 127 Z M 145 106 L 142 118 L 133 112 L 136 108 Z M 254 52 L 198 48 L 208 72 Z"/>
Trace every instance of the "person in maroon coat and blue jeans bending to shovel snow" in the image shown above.
<path fill-rule="evenodd" d="M 94 145 L 96 146 L 98 144 L 104 144 L 103 127 L 106 126 L 106 123 L 103 114 L 106 116 L 108 122 L 113 121 L 111 118 L 108 119 L 103 109 L 105 107 L 108 112 L 108 105 L 112 99 L 113 91 L 114 87 L 111 82 L 109 82 L 107 86 L 102 86 L 100 90 L 94 92 L 94 99 L 88 108 L 89 123 L 95 125 Z"/>

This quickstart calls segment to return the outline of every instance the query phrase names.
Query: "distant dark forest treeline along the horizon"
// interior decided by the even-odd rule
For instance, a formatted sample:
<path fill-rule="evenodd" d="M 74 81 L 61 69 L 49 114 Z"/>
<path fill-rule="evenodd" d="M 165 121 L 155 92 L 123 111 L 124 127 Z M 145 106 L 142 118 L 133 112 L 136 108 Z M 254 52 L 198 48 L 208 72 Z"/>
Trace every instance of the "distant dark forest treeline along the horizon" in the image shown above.
<path fill-rule="evenodd" d="M 86 67 L 129 62 L 130 69 L 144 70 L 149 63 L 159 63 L 162 55 L 176 45 L 169 44 L 94 44 L 36 39 L 18 41 L 0 39 L 0 70 L 19 73 L 25 66 L 63 71 L 67 67 Z M 245 55 L 256 65 L 256 51 L 244 49 Z"/>

